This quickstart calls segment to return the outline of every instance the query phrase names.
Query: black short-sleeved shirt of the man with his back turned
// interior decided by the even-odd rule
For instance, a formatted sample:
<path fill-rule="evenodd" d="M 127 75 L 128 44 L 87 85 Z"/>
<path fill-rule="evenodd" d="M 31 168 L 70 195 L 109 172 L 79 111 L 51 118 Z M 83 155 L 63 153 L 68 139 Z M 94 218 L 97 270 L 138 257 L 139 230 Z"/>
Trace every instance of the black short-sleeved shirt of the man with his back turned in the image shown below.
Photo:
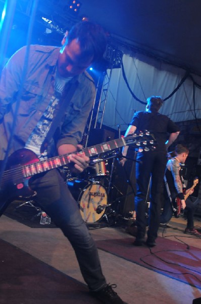
<path fill-rule="evenodd" d="M 166 149 L 165 142 L 168 133 L 179 131 L 179 127 L 167 116 L 160 113 L 137 111 L 134 113 L 130 125 L 137 128 L 136 131 L 147 130 L 154 134 L 157 140 L 157 149 Z"/>

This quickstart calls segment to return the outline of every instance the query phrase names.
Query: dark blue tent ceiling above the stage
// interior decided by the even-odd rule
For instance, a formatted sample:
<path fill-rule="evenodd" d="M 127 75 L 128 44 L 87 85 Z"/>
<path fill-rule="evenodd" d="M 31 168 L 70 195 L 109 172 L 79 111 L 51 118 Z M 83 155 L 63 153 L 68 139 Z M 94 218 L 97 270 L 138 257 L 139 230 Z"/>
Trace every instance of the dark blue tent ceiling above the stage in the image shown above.
<path fill-rule="evenodd" d="M 122 44 L 201 75 L 200 0 L 80 2 L 79 16 L 102 24 Z M 48 3 L 45 5 L 44 1 L 42 9 L 50 14 L 57 11 L 60 22 L 64 18 L 65 27 L 67 2 L 52 0 Z"/>

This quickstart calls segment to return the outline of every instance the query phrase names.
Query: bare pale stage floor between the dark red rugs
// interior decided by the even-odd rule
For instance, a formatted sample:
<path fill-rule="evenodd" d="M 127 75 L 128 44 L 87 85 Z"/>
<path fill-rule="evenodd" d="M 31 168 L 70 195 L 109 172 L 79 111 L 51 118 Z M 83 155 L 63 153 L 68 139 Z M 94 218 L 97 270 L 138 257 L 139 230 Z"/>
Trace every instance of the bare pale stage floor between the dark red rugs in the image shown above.
<path fill-rule="evenodd" d="M 172 218 L 170 224 L 171 227 L 165 229 L 160 227 L 159 235 L 165 236 L 164 242 L 168 238 L 201 249 L 201 238 L 184 235 L 186 221 L 183 218 Z M 200 227 L 199 219 L 195 220 L 195 225 Z M 123 238 L 131 238 L 131 242 L 134 240 L 133 236 L 125 232 L 124 227 L 102 227 L 92 229 L 90 233 L 96 241 Z M 3 215 L 0 219 L 0 239 L 84 283 L 74 251 L 58 228 L 31 228 Z M 1 256 L 4 256 L 2 249 L 0 250 Z M 117 284 L 116 291 L 128 304 L 191 304 L 194 298 L 201 297 L 201 288 L 192 287 L 109 252 L 100 249 L 98 251 L 108 283 Z M 15 259 L 15 255 L 13 258 Z M 196 261 L 198 265 L 200 259 Z M 4 302 L 0 300 L 0 303 Z M 33 303 L 36 303 L 34 299 Z M 37 303 L 40 304 L 38 301 Z M 55 300 L 55 304 L 57 303 L 60 303 L 59 298 L 58 301 Z"/>

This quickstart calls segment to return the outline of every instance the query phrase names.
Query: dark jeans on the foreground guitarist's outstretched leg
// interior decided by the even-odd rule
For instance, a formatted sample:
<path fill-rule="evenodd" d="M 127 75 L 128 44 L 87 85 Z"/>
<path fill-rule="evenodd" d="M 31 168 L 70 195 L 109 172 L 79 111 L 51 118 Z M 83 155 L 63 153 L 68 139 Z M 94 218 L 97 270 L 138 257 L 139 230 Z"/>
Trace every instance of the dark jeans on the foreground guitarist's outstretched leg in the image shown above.
<path fill-rule="evenodd" d="M 73 246 L 89 289 L 99 290 L 104 287 L 106 280 L 96 245 L 60 172 L 53 169 L 37 175 L 31 180 L 31 188 L 37 192 L 34 200 L 60 227 Z"/>

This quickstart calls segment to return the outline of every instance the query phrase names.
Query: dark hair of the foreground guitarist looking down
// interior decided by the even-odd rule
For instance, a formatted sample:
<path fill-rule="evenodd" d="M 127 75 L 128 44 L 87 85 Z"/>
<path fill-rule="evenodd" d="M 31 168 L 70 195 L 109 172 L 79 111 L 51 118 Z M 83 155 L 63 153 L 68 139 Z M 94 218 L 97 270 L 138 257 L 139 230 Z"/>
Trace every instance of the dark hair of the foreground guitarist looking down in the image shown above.
<path fill-rule="evenodd" d="M 103 57 L 107 45 L 107 35 L 102 26 L 89 21 L 76 23 L 68 33 L 67 43 L 74 39 L 80 42 L 82 56 L 93 57 L 93 62 Z"/>

